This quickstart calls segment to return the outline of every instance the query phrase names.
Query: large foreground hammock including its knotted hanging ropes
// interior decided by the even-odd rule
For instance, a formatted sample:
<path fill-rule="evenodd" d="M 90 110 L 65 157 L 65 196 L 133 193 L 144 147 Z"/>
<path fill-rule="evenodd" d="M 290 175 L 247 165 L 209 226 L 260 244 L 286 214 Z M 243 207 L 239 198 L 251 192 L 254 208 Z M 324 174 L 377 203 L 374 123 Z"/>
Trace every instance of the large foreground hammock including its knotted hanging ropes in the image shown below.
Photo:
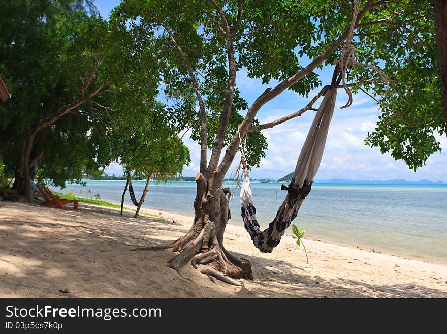
<path fill-rule="evenodd" d="M 276 212 L 276 217 L 264 231 L 261 231 L 259 223 L 256 220 L 256 208 L 253 205 L 253 198 L 251 195 L 250 178 L 246 167 L 244 147 L 239 134 L 239 140 L 241 141 L 242 147 L 241 163 L 243 166 L 243 181 L 240 194 L 242 219 L 244 221 L 244 227 L 250 234 L 254 246 L 261 252 L 271 253 L 279 244 L 281 237 L 284 235 L 284 231 L 290 226 L 295 217 L 297 217 L 301 204 L 312 188 L 313 177 L 320 166 L 323 151 L 325 149 L 326 137 L 334 113 L 335 99 L 337 97 L 337 89 L 340 82 L 342 82 L 342 86 L 348 94 L 348 102 L 341 108 L 347 108 L 352 104 L 352 93 L 344 79 L 346 73 L 352 69 L 354 64 L 371 68 L 375 70 L 379 74 L 381 80 L 386 83 L 386 92 L 388 92 L 388 78 L 374 66 L 359 63 L 357 60 L 356 48 L 351 44 L 359 8 L 360 0 L 356 0 L 354 3 L 353 20 L 349 28 L 346 42 L 343 45 L 340 61 L 336 65 L 332 83 L 325 88 L 326 92 L 323 94 L 323 101 L 316 112 L 315 118 L 313 119 L 307 134 L 306 141 L 301 149 L 292 181 L 288 187 L 284 185 L 281 186 L 281 190 L 287 191 L 285 200 Z M 338 75 L 339 72 L 340 75 Z"/>

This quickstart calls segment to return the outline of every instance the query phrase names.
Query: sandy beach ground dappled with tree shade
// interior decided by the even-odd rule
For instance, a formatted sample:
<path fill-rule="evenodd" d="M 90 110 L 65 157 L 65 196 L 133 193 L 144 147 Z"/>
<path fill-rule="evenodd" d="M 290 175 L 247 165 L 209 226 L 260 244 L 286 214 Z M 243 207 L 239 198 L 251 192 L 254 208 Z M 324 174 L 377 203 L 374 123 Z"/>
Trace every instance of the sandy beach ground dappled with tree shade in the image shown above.
<path fill-rule="evenodd" d="M 186 265 L 167 267 L 170 250 L 131 251 L 177 239 L 191 217 L 144 209 L 163 218 L 79 203 L 79 212 L 0 202 L 0 297 L 447 297 L 447 263 L 284 236 L 260 253 L 245 230 L 228 225 L 226 248 L 252 263 L 253 281 L 214 284 Z M 173 223 L 173 221 L 175 223 Z M 68 289 L 71 293 L 59 290 Z"/>

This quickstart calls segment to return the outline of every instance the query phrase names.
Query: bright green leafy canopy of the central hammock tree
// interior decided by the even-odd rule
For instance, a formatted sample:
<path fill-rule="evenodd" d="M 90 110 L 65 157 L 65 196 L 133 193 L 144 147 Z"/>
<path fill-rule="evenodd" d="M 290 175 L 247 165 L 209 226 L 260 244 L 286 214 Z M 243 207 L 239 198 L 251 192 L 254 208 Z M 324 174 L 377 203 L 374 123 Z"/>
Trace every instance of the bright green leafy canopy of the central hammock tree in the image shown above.
<path fill-rule="evenodd" d="M 232 113 L 225 145 L 251 108 L 237 86 L 229 99 L 229 51 L 237 69 L 246 69 L 249 78 L 280 82 L 273 90 L 278 93 L 269 93 L 272 97 L 280 94 L 282 86 L 307 96 L 323 84 L 312 71 L 339 59 L 353 11 L 353 2 L 337 0 L 233 0 L 225 2 L 221 11 L 219 6 L 205 0 L 124 0 L 112 16 L 117 26 L 138 31 L 137 40 L 152 38 L 161 93 L 178 112 L 178 119 L 192 127 L 191 138 L 198 142 L 203 140 L 203 126 L 195 99 L 197 90 L 202 94 L 209 149 L 215 147 L 226 102 L 231 101 Z M 231 30 L 231 46 L 222 33 L 227 26 L 236 26 Z M 366 142 L 380 146 L 382 152 L 391 151 L 416 169 L 440 150 L 435 134 L 442 135 L 433 8 L 426 1 L 362 1 L 353 43 L 361 63 L 384 69 L 391 79 L 391 90 L 380 102 L 383 113 Z M 288 84 L 307 68 L 308 74 Z M 355 67 L 349 75 L 358 86 L 354 92 L 367 89 L 378 97 L 385 85 L 371 82 L 375 77 L 364 67 Z M 256 123 L 255 119 L 252 125 Z M 259 164 L 267 148 L 265 137 L 250 132 L 247 144 L 248 163 Z"/>

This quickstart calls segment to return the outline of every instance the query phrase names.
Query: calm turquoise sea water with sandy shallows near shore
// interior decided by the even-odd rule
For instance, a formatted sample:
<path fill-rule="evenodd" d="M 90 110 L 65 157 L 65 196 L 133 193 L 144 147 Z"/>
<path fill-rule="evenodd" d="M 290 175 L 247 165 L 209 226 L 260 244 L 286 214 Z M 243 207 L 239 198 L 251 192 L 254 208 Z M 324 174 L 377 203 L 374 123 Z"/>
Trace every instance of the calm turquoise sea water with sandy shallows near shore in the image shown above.
<path fill-rule="evenodd" d="M 144 181 L 134 181 L 139 199 Z M 125 181 L 87 181 L 87 186 L 68 185 L 61 192 L 121 202 Z M 285 192 L 279 183 L 252 183 L 254 205 L 261 227 L 275 216 Z M 224 185 L 232 189 L 232 183 Z M 80 191 L 82 193 L 80 194 Z M 192 216 L 196 195 L 194 182 L 150 183 L 144 207 Z M 133 206 L 129 194 L 126 206 Z M 239 189 L 230 202 L 231 224 L 242 225 Z M 294 223 L 306 237 L 372 249 L 447 260 L 447 186 L 314 184 Z M 248 237 L 248 234 L 247 234 Z"/>

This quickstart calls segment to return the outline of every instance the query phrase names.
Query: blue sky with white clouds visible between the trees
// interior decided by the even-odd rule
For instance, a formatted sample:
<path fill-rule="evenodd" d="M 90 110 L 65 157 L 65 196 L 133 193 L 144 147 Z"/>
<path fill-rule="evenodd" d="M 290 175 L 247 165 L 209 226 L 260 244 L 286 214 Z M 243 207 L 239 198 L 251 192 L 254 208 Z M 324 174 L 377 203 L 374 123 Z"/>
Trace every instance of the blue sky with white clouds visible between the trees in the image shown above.
<path fill-rule="evenodd" d="M 97 0 L 95 4 L 102 16 L 108 17 L 110 10 L 119 4 L 119 0 Z M 315 72 L 321 74 L 322 81 L 325 83 L 330 82 L 332 71 L 332 68 L 327 67 Z M 273 87 L 275 82 L 263 85 L 261 80 L 247 78 L 246 71 L 242 69 L 238 71 L 236 84 L 241 90 L 242 96 L 250 104 L 267 87 Z M 309 99 L 312 96 L 311 93 Z M 284 92 L 267 103 L 259 111 L 258 118 L 261 123 L 269 122 L 301 109 L 309 99 L 300 97 L 293 92 Z M 375 101 L 363 93 L 357 94 L 354 96 L 354 103 L 351 107 L 340 109 L 340 106 L 344 105 L 346 101 L 346 94 L 339 89 L 325 153 L 315 179 L 388 180 L 405 178 L 407 180 L 428 179 L 447 182 L 447 137 L 439 138 L 443 151 L 432 155 L 424 167 L 413 172 L 404 162 L 395 161 L 390 154 L 382 155 L 378 148 L 364 145 L 363 141 L 368 131 L 371 132 L 374 129 L 380 113 Z M 277 179 L 293 171 L 313 115 L 314 112 L 308 111 L 301 117 L 273 129 L 264 130 L 263 133 L 269 144 L 268 151 L 265 159 L 261 161 L 260 168 L 253 169 L 250 176 Z M 197 143 L 187 138 L 187 135 L 184 138 L 185 144 L 191 151 L 192 162 L 189 166 L 185 166 L 183 175 L 195 176 L 199 169 L 200 149 Z M 233 166 L 239 159 L 240 157 L 236 156 Z M 232 169 L 233 167 L 230 168 L 230 171 Z M 106 172 L 122 174 L 122 170 L 117 164 L 109 166 Z"/>

